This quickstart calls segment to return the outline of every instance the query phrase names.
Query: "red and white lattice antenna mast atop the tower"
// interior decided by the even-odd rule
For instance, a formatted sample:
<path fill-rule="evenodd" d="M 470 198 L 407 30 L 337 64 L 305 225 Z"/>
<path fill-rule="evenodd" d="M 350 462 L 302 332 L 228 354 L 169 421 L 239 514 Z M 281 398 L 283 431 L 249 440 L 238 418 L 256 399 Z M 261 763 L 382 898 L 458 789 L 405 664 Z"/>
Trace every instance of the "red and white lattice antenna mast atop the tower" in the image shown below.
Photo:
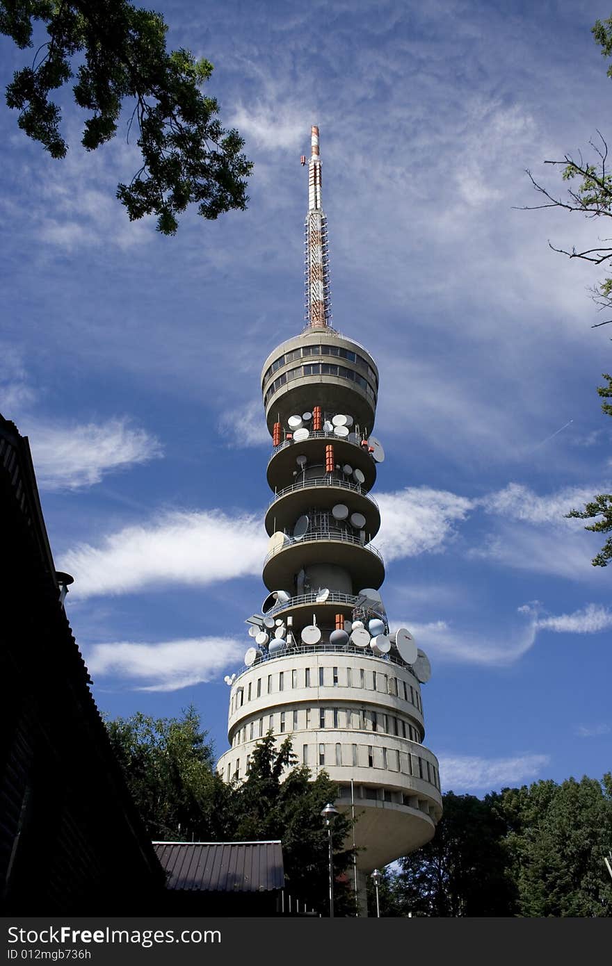
<path fill-rule="evenodd" d="M 306 326 L 330 326 L 330 272 L 328 255 L 327 218 L 321 208 L 321 158 L 319 156 L 319 128 L 310 133 L 308 161 L 308 213 L 306 214 Z M 306 157 L 302 156 L 306 164 Z"/>

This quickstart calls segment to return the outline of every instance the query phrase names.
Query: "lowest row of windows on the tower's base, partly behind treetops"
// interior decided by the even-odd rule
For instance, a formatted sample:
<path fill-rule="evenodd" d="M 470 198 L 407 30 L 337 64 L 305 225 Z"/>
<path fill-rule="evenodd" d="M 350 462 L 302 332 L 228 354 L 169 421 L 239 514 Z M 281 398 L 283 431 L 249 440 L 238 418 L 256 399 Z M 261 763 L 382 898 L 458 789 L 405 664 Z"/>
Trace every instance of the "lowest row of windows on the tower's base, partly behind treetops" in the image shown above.
<path fill-rule="evenodd" d="M 341 745 L 339 742 L 302 746 L 302 762 L 305 765 L 318 764 L 320 767 L 335 765 L 336 768 L 380 768 L 389 772 L 410 775 L 428 781 L 440 791 L 440 774 L 433 762 L 420 754 L 399 752 L 395 748 L 378 748 L 375 745 Z M 250 755 L 247 755 L 247 774 Z M 232 763 L 227 762 L 226 778 L 240 779 L 240 758 L 236 759 L 232 773 Z M 408 804 L 408 803 L 406 803 Z"/>

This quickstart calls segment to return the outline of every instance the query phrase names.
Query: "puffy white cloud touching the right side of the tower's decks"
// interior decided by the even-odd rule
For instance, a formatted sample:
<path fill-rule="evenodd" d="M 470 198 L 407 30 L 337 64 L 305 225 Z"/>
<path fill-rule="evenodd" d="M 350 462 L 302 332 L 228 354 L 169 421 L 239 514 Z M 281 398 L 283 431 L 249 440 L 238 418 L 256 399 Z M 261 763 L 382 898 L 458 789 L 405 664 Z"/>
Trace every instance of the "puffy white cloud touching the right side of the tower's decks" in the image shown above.
<path fill-rule="evenodd" d="M 465 520 L 473 506 L 465 497 L 428 487 L 406 487 L 376 500 L 382 517 L 376 546 L 387 561 L 441 550 L 452 538 L 452 525 Z"/>

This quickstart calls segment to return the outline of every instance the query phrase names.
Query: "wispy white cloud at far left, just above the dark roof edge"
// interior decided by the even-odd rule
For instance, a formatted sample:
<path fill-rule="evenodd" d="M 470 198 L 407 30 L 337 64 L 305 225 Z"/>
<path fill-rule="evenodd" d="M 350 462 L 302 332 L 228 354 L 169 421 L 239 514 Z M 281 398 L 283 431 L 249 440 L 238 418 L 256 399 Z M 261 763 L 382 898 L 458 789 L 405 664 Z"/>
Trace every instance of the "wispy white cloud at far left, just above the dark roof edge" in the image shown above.
<path fill-rule="evenodd" d="M 126 418 L 72 426 L 25 422 L 38 481 L 47 490 L 100 483 L 105 473 L 161 456 L 160 442 Z"/>

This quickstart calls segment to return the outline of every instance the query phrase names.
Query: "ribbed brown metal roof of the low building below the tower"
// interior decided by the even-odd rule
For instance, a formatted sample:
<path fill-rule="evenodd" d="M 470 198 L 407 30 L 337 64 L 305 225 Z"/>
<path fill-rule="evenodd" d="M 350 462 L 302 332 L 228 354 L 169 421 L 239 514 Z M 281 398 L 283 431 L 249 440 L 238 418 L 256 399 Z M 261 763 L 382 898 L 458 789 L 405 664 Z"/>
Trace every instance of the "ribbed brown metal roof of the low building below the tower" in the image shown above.
<path fill-rule="evenodd" d="M 279 841 L 154 842 L 168 889 L 264 893 L 284 886 Z"/>

